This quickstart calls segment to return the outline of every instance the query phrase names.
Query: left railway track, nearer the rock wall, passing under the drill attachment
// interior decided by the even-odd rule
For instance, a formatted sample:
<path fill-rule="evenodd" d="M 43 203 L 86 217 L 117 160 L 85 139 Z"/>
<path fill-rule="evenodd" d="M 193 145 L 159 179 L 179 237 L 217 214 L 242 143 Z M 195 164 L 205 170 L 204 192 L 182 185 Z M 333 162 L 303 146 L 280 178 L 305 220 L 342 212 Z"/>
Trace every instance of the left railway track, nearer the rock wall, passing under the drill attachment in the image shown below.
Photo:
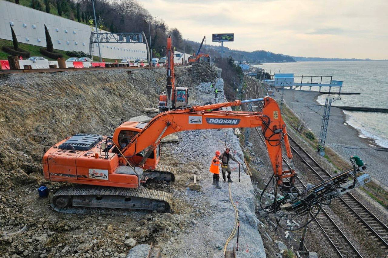
<path fill-rule="evenodd" d="M 249 80 L 249 79 L 248 79 Z M 254 84 L 255 81 L 249 81 L 248 83 L 248 88 L 246 92 L 246 96 L 248 98 L 251 98 L 250 93 L 251 89 L 255 91 L 255 98 L 260 97 L 260 94 L 257 92 L 257 84 Z M 250 88 L 250 89 L 249 89 Z M 258 106 L 261 108 L 262 103 L 258 103 Z M 263 135 L 261 133 L 261 130 L 259 130 L 257 127 L 255 127 L 255 130 L 257 132 L 257 135 L 261 139 L 261 144 L 265 145 L 265 140 L 263 138 Z M 282 157 L 282 164 L 284 167 L 290 168 L 287 160 Z M 298 190 L 303 191 L 307 187 L 301 181 L 301 179 L 296 176 L 295 180 L 295 186 L 298 188 Z M 327 240 L 329 243 L 331 243 L 333 247 L 333 251 L 335 251 L 338 254 L 338 257 L 341 258 L 347 258 L 347 257 L 360 257 L 362 258 L 363 256 L 359 253 L 357 248 L 352 244 L 352 242 L 346 237 L 345 233 L 341 231 L 340 227 L 334 222 L 334 220 L 331 218 L 331 216 L 327 213 L 324 207 L 322 207 L 322 212 L 320 212 L 317 217 L 314 218 L 314 222 L 317 224 L 317 226 L 321 229 L 322 233 L 324 236 L 326 236 Z"/>

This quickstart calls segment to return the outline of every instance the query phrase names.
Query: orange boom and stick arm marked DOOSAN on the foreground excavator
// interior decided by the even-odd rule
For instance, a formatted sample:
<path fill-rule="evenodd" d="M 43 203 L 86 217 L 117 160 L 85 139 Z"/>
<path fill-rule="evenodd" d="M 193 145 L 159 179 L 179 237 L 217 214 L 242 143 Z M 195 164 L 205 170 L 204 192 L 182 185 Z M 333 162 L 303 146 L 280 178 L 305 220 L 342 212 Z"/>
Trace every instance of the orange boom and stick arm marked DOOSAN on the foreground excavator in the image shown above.
<path fill-rule="evenodd" d="M 208 109 L 239 106 L 249 101 L 264 101 L 262 112 L 207 111 Z M 277 184 L 283 185 L 282 179 L 285 177 L 291 177 L 292 181 L 295 172 L 293 170 L 282 170 L 281 146 L 283 140 L 286 144 L 289 159 L 292 158 L 292 154 L 288 144 L 286 124 L 282 120 L 279 106 L 271 97 L 249 101 L 232 101 L 207 106 L 194 106 L 160 113 L 140 133 L 132 138 L 132 141 L 122 150 L 122 153 L 126 157 L 132 157 L 151 146 L 139 164 L 142 167 L 152 151 L 158 146 L 160 139 L 171 133 L 187 130 L 261 126 Z"/>

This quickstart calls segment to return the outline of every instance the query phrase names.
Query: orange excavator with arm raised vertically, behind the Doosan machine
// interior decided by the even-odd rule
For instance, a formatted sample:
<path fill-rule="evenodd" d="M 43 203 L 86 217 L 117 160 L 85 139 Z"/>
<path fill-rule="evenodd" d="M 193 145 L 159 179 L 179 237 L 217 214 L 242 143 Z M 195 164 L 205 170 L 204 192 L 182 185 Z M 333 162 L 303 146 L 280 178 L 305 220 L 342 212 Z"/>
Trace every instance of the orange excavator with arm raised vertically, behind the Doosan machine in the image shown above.
<path fill-rule="evenodd" d="M 170 109 L 179 108 L 180 106 L 187 107 L 189 93 L 186 87 L 175 87 L 175 72 L 174 72 L 174 50 L 172 47 L 172 38 L 168 36 L 167 47 L 167 84 L 166 90 L 159 95 L 159 110 L 167 111 Z"/>

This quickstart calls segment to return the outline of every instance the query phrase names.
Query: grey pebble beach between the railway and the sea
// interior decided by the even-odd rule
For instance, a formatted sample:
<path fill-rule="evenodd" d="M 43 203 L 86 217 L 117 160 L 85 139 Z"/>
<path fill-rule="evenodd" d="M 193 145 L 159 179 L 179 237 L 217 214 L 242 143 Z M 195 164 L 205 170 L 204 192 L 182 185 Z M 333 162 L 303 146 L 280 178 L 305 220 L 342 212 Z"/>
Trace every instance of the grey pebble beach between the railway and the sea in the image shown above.
<path fill-rule="evenodd" d="M 314 91 L 300 91 L 285 89 L 284 102 L 287 106 L 312 130 L 318 138 L 322 116 L 308 109 L 307 105 L 316 105 L 317 98 L 322 95 Z M 281 94 L 275 93 L 275 99 L 279 100 Z M 313 108 L 318 111 L 319 108 Z M 322 113 L 322 108 L 319 110 Z M 314 113 L 314 114 L 312 114 Z M 375 139 L 360 137 L 360 131 L 346 121 L 346 114 L 340 108 L 331 108 L 331 120 L 327 128 L 326 146 L 333 149 L 343 159 L 348 160 L 352 155 L 358 155 L 368 164 L 368 173 L 382 184 L 388 186 L 386 167 L 388 166 L 388 152 L 379 151 Z M 363 135 L 364 136 L 364 135 Z"/>

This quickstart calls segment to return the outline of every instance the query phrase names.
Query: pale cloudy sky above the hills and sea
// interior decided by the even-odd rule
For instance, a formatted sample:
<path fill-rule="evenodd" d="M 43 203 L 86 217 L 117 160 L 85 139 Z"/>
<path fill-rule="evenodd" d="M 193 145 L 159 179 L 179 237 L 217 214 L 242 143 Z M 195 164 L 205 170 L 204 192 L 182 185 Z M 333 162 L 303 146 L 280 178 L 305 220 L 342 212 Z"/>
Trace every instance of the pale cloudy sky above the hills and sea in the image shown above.
<path fill-rule="evenodd" d="M 388 59 L 388 0 L 139 0 L 185 39 L 234 33 L 237 50 Z M 215 42 L 214 44 L 220 44 Z"/>

